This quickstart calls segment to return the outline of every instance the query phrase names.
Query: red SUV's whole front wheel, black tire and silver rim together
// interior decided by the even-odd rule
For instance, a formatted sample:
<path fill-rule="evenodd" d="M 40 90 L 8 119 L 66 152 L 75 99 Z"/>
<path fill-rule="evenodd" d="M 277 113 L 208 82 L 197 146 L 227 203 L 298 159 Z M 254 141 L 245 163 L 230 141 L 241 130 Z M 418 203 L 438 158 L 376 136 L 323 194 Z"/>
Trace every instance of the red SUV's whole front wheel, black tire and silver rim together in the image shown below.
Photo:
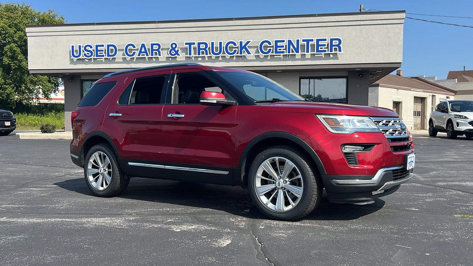
<path fill-rule="evenodd" d="M 284 171 L 286 166 L 290 167 L 289 172 Z M 312 158 L 290 146 L 274 146 L 258 154 L 251 164 L 248 183 L 258 210 L 283 221 L 298 220 L 311 213 L 324 188 Z"/>

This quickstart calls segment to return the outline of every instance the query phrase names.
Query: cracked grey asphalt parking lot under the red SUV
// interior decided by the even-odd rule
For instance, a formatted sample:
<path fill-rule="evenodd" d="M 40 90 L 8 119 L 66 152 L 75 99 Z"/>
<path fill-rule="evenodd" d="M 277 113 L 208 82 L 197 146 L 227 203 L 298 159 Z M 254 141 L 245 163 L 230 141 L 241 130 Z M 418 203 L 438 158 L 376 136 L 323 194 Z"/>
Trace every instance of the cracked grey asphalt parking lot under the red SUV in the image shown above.
<path fill-rule="evenodd" d="M 69 141 L 0 137 L 0 265 L 472 265 L 473 140 L 414 143 L 398 192 L 280 222 L 240 187 L 132 178 L 98 198 Z"/>

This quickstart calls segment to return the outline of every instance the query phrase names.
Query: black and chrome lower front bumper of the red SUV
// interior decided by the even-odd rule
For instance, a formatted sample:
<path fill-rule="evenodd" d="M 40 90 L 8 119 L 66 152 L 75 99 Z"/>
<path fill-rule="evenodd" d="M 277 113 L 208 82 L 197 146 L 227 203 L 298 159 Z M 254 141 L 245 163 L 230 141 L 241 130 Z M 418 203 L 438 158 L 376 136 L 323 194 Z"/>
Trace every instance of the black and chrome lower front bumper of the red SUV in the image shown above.
<path fill-rule="evenodd" d="M 327 199 L 333 203 L 370 204 L 395 192 L 413 176 L 405 166 L 381 168 L 375 175 L 322 175 Z"/>

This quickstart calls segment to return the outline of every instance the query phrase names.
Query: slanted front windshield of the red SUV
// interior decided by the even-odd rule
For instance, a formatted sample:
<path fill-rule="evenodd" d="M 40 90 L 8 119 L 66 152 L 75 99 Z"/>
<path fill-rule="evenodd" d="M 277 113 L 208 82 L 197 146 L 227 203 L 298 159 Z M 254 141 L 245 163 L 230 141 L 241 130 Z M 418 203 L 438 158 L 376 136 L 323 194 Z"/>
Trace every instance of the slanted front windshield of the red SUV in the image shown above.
<path fill-rule="evenodd" d="M 216 72 L 254 101 L 272 99 L 304 101 L 304 98 L 262 75 L 230 71 Z"/>

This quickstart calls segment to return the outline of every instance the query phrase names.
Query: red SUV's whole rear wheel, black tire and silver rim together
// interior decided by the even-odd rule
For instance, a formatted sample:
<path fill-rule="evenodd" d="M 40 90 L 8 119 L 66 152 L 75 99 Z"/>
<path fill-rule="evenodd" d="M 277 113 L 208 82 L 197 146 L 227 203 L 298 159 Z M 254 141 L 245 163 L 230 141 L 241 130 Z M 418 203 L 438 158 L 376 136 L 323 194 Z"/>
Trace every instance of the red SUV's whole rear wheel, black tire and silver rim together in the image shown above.
<path fill-rule="evenodd" d="M 84 162 L 87 186 L 96 196 L 113 197 L 122 193 L 130 183 L 130 178 L 122 172 L 115 152 L 109 144 L 101 143 L 92 147 Z"/>

